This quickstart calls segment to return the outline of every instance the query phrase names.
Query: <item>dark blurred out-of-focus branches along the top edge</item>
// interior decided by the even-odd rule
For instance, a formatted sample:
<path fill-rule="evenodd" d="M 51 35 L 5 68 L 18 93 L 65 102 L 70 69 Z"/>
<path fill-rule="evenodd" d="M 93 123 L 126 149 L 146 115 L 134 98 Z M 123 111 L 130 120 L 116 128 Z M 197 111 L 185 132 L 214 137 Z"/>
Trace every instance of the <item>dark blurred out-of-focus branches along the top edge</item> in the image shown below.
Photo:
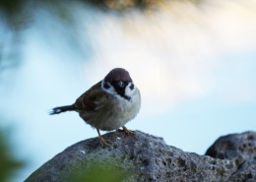
<path fill-rule="evenodd" d="M 114 10 L 125 12 L 127 9 L 145 10 L 152 7 L 158 7 L 170 1 L 184 1 L 194 4 L 200 3 L 204 0 L 0 0 L 0 15 L 4 18 L 12 29 L 16 30 L 26 26 L 32 19 L 32 13 L 38 8 L 46 8 L 48 10 L 55 10 L 55 16 L 68 18 L 68 12 L 63 11 L 63 7 L 69 7 L 70 4 L 83 3 L 94 6 L 101 10 Z"/>

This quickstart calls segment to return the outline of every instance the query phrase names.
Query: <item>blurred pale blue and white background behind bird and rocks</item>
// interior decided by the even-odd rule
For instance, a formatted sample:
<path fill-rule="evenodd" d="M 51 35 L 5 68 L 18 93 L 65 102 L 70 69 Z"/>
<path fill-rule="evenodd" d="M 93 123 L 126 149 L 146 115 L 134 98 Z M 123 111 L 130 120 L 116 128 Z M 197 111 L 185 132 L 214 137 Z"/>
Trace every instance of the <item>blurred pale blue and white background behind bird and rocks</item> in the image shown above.
<path fill-rule="evenodd" d="M 77 113 L 48 111 L 115 67 L 142 93 L 129 129 L 199 154 L 222 135 L 256 130 L 256 1 L 1 0 L 6 181 L 97 136 Z"/>

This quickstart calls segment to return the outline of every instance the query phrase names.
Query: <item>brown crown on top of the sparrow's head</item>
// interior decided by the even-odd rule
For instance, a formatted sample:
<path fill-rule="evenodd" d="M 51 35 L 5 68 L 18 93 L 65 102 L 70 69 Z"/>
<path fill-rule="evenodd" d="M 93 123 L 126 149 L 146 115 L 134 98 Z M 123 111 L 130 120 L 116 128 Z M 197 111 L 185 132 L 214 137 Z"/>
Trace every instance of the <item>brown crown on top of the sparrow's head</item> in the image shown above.
<path fill-rule="evenodd" d="M 111 82 L 111 81 L 124 81 L 124 82 L 132 82 L 132 79 L 127 72 L 123 68 L 114 68 L 112 69 L 104 78 L 104 81 Z"/>

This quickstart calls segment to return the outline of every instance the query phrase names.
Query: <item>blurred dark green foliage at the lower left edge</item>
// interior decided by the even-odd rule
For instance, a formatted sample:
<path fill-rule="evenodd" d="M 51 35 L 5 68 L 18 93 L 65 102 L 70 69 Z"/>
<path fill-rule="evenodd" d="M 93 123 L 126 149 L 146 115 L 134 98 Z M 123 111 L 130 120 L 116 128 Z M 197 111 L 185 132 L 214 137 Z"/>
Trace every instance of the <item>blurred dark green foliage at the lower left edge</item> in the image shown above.
<path fill-rule="evenodd" d="M 11 179 L 15 172 L 25 165 L 24 161 L 16 159 L 13 155 L 9 135 L 0 129 L 0 181 L 2 182 Z"/>

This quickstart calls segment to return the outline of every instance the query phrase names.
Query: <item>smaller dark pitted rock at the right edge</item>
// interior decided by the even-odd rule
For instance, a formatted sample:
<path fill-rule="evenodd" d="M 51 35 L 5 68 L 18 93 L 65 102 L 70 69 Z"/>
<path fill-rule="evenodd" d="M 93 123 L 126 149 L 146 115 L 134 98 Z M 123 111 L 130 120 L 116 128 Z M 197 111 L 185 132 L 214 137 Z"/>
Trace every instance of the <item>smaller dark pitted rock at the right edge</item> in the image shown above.
<path fill-rule="evenodd" d="M 256 181 L 256 132 L 221 137 L 206 154 L 215 158 L 235 160 L 238 168 L 229 181 Z"/>

